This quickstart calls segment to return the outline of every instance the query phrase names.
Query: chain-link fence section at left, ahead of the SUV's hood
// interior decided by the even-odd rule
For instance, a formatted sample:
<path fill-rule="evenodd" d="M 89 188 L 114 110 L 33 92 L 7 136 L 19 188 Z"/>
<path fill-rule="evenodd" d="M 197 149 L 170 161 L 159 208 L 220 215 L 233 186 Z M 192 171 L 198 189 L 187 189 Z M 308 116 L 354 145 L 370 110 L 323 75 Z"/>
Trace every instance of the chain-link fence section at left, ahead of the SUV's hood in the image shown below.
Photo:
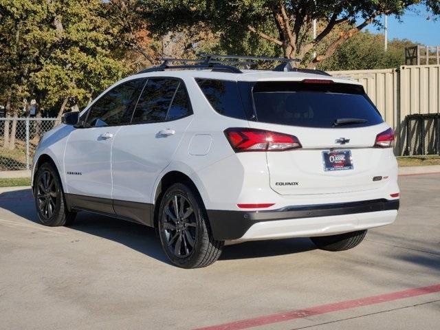
<path fill-rule="evenodd" d="M 29 170 L 40 137 L 56 118 L 0 118 L 0 170 Z"/>

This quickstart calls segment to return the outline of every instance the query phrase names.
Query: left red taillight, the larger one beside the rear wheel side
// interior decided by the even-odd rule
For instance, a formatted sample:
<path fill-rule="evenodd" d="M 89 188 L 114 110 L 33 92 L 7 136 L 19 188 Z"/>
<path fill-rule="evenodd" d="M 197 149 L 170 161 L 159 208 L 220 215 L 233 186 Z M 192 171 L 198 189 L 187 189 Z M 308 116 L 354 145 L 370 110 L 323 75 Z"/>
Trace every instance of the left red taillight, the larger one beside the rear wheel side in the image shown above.
<path fill-rule="evenodd" d="M 285 151 L 301 148 L 296 136 L 263 129 L 226 129 L 225 135 L 236 153 Z"/>

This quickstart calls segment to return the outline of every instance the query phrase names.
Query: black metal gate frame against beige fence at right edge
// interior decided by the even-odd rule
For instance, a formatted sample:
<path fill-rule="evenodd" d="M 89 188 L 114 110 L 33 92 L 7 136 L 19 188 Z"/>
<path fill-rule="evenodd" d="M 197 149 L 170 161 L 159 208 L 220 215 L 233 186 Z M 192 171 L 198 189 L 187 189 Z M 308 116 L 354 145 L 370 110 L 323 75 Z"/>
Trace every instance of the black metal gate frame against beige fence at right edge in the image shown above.
<path fill-rule="evenodd" d="M 405 120 L 405 155 L 440 155 L 440 113 L 417 113 Z"/>

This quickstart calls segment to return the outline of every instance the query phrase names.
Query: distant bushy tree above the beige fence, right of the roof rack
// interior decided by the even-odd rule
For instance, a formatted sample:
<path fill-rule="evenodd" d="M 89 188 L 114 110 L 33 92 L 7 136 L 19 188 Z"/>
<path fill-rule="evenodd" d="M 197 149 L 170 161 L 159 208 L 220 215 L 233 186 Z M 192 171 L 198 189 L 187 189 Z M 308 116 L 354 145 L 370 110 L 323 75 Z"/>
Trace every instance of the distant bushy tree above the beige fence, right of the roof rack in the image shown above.
<path fill-rule="evenodd" d="M 404 65 L 405 47 L 415 45 L 408 40 L 394 39 L 384 50 L 384 35 L 361 32 L 341 45 L 336 52 L 322 61 L 318 69 L 359 70 L 388 69 Z"/>

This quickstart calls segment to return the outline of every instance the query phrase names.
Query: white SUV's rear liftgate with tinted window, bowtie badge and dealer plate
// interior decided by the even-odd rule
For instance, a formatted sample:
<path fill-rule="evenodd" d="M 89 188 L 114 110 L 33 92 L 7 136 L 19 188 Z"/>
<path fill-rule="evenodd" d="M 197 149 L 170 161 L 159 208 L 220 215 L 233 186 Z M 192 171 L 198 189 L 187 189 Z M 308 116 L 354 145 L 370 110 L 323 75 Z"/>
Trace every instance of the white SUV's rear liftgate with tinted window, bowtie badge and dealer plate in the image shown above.
<path fill-rule="evenodd" d="M 313 195 L 380 188 L 392 151 L 373 148 L 388 129 L 358 85 L 331 80 L 256 83 L 255 128 L 298 137 L 302 148 L 267 152 L 272 189 Z"/>

